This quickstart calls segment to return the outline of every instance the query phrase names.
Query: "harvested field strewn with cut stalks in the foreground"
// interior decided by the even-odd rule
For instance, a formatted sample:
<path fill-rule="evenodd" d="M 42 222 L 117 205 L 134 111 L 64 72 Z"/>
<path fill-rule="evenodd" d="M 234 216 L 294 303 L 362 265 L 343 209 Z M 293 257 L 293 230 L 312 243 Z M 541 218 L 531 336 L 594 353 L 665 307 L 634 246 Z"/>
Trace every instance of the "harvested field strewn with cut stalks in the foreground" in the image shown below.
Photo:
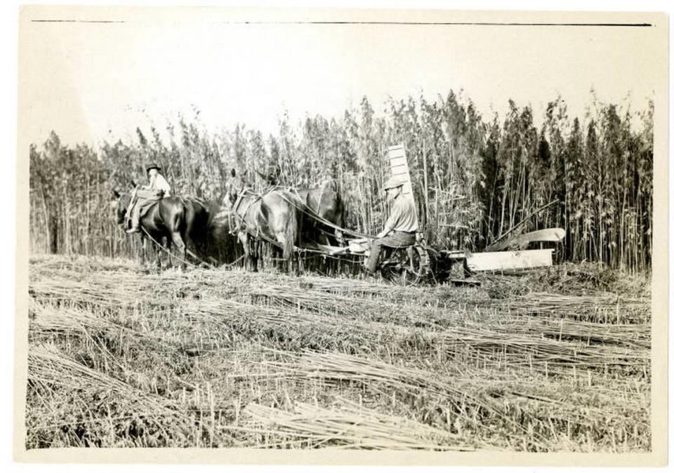
<path fill-rule="evenodd" d="M 29 271 L 27 448 L 650 450 L 645 280 Z"/>

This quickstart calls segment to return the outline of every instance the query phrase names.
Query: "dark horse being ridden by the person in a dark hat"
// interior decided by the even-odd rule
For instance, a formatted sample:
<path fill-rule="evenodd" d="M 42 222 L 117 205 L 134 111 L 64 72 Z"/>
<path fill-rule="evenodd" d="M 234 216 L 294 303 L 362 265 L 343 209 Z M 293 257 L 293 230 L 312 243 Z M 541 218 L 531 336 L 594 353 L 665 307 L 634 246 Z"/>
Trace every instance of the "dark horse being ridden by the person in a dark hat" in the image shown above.
<path fill-rule="evenodd" d="M 123 225 L 127 221 L 128 207 L 131 204 L 131 194 L 112 191 L 112 208 L 117 213 L 117 223 Z M 145 264 L 146 241 L 150 237 L 161 244 L 166 239 L 166 249 L 171 251 L 172 244 L 178 247 L 183 255 L 182 268 L 186 268 L 188 241 L 194 229 L 203 229 L 207 221 L 206 207 L 191 199 L 180 197 L 164 197 L 145 211 L 140 218 L 140 253 L 141 264 Z M 196 224 L 196 225 L 195 225 Z M 157 251 L 157 269 L 161 269 L 161 259 Z M 169 253 L 169 266 L 171 255 Z"/>

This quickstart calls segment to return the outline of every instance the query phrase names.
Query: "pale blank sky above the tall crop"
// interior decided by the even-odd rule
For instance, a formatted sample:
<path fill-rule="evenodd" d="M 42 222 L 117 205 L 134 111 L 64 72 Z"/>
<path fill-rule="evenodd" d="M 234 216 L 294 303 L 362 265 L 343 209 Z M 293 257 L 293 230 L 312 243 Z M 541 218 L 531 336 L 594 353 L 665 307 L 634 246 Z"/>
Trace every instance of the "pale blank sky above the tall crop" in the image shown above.
<path fill-rule="evenodd" d="M 25 132 L 41 143 L 100 145 L 163 130 L 182 113 L 211 132 L 246 124 L 277 132 L 293 121 L 341 116 L 366 96 L 463 91 L 485 119 L 508 99 L 540 122 L 561 95 L 583 116 L 590 89 L 643 109 L 656 88 L 656 46 L 642 27 L 232 24 L 139 20 L 29 23 L 22 44 Z M 628 100 L 626 100 L 628 98 Z M 199 111 L 198 117 L 195 115 Z"/>

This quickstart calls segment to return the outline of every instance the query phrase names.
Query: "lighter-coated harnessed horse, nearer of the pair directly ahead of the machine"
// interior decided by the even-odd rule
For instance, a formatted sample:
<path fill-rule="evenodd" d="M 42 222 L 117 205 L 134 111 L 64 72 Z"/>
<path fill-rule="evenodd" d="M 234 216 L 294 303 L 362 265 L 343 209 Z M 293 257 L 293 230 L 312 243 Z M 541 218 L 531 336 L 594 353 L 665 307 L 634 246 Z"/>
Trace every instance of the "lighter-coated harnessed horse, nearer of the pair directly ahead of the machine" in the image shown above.
<path fill-rule="evenodd" d="M 232 169 L 226 195 L 232 206 L 234 229 L 244 247 L 246 267 L 258 269 L 258 248 L 253 248 L 253 238 L 263 239 L 282 251 L 286 269 L 292 269 L 292 257 L 299 244 L 302 205 L 296 196 L 281 189 L 257 194 L 237 178 Z"/>

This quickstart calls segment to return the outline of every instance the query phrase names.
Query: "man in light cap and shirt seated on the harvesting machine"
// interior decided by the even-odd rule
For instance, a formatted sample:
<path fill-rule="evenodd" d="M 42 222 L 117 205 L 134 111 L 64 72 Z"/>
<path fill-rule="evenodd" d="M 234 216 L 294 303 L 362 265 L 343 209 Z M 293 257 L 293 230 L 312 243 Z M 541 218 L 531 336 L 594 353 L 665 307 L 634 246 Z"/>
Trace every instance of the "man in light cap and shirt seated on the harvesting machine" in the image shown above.
<path fill-rule="evenodd" d="M 384 190 L 386 201 L 392 201 L 393 206 L 384 229 L 370 245 L 370 256 L 365 263 L 369 274 L 374 274 L 377 269 L 382 246 L 399 248 L 414 245 L 416 232 L 419 230 L 414 204 L 402 195 L 402 182 L 397 178 L 390 178 L 386 181 Z"/>

